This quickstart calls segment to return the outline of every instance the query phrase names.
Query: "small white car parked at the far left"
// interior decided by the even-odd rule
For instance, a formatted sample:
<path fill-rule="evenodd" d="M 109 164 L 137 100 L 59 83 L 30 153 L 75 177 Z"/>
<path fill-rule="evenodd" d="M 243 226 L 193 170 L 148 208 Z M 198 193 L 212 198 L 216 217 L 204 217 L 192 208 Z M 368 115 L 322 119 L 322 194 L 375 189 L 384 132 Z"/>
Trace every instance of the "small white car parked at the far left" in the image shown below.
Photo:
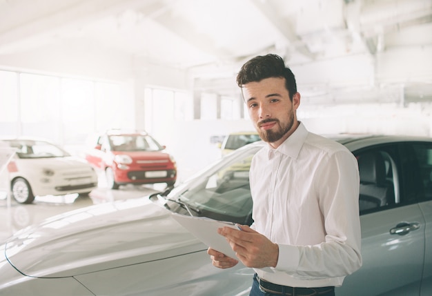
<path fill-rule="evenodd" d="M 97 187 L 97 173 L 84 159 L 72 157 L 55 144 L 39 139 L 1 139 L 14 148 L 8 179 L 14 199 L 30 204 L 35 196 L 90 193 Z"/>

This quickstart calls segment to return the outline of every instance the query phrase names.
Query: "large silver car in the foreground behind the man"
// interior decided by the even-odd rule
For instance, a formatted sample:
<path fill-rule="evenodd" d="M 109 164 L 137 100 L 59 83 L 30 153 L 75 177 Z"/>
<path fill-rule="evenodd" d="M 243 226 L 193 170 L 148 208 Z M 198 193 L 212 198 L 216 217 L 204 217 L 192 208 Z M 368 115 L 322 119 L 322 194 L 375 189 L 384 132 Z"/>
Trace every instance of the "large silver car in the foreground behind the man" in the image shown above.
<path fill-rule="evenodd" d="M 432 295 L 432 140 L 339 137 L 359 161 L 363 266 L 336 295 Z M 0 295 L 248 295 L 171 213 L 251 224 L 255 142 L 170 192 L 47 219 L 1 246 Z"/>

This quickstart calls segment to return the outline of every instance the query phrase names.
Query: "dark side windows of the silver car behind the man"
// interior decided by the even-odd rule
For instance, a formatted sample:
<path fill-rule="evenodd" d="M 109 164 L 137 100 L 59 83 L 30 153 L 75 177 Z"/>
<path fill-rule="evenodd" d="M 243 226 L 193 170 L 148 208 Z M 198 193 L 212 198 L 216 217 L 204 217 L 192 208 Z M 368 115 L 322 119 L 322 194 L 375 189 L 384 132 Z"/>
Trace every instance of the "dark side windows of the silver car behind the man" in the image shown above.
<path fill-rule="evenodd" d="M 432 199 L 432 144 L 389 144 L 355 155 L 361 214 Z"/>

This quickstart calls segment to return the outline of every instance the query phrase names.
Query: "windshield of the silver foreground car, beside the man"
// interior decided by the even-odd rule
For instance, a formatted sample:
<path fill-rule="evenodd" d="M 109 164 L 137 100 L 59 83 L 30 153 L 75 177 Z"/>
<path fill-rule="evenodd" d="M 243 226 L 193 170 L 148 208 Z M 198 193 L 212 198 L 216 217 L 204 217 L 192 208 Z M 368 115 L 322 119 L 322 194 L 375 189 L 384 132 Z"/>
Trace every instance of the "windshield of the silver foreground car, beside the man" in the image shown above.
<path fill-rule="evenodd" d="M 252 224 L 252 198 L 249 187 L 249 167 L 253 155 L 262 145 L 236 150 L 207 169 L 198 172 L 184 184 L 174 188 L 168 199 L 181 201 L 189 210 L 169 202 L 171 210 L 189 215 L 209 217 L 239 224 Z"/>

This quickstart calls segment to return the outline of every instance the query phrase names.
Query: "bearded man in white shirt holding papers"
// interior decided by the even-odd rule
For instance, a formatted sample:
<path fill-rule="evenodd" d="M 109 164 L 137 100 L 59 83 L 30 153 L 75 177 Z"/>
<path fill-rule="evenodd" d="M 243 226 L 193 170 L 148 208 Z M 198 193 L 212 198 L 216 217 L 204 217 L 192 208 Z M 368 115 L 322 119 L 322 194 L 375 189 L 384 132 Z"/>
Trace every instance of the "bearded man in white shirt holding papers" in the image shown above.
<path fill-rule="evenodd" d="M 308 132 L 293 72 L 277 55 L 246 62 L 237 84 L 268 146 L 253 157 L 251 227 L 219 228 L 237 258 L 211 248 L 213 265 L 255 269 L 251 296 L 335 295 L 362 265 L 357 161 L 341 144 Z"/>

